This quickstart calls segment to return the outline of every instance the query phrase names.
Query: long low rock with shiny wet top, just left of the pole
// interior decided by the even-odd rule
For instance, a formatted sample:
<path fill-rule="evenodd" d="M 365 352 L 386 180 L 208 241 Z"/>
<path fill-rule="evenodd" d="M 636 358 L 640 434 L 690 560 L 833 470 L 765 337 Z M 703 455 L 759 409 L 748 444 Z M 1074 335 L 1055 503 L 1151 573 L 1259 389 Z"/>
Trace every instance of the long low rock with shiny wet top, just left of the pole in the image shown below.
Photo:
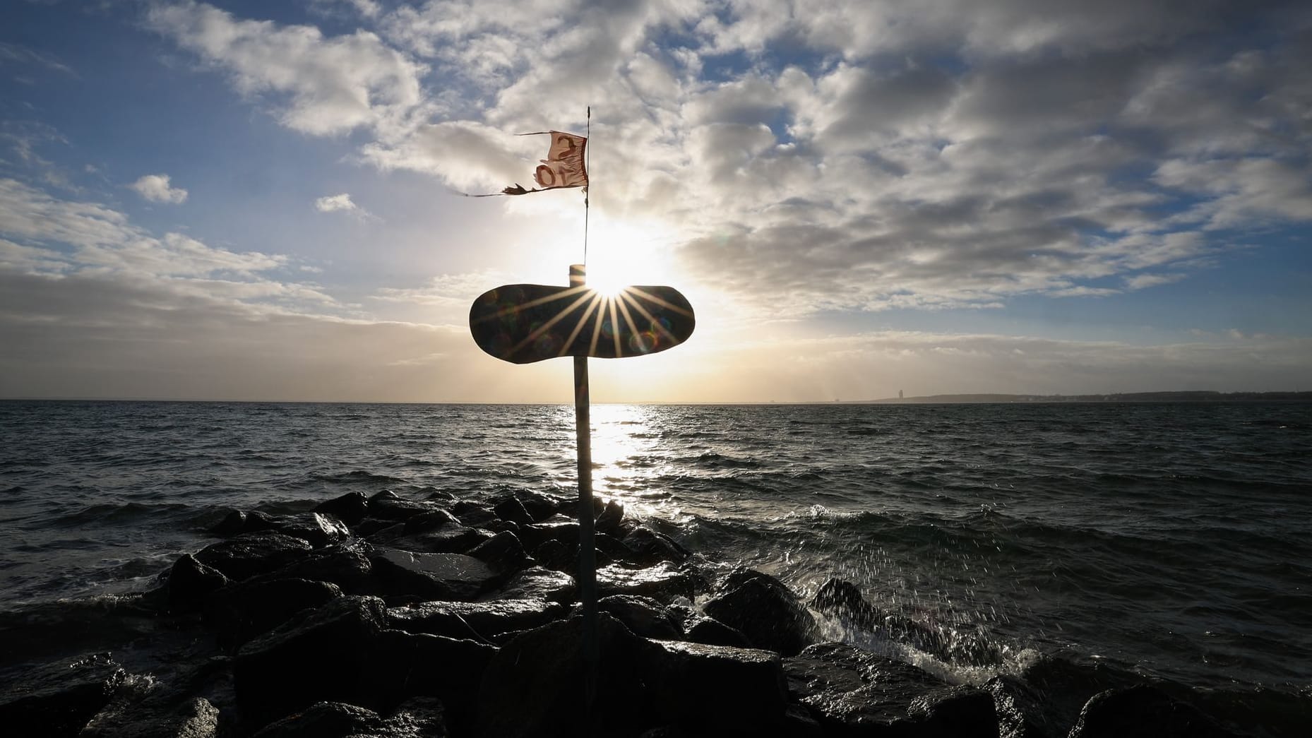
<path fill-rule="evenodd" d="M 411 633 L 489 641 L 501 633 L 539 628 L 564 613 L 560 603 L 542 599 L 436 601 L 388 608 L 387 624 Z"/>

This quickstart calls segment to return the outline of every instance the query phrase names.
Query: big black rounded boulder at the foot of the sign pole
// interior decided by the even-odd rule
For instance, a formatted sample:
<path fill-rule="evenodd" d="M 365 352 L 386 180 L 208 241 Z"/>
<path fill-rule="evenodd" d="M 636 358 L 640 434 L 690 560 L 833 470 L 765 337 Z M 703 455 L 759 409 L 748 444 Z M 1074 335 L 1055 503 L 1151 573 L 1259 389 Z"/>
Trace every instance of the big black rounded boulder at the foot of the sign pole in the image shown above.
<path fill-rule="evenodd" d="M 583 724 L 583 619 L 559 620 L 520 634 L 488 663 L 478 700 L 480 735 L 550 738 L 636 733 L 655 725 L 646 679 L 652 643 L 615 619 L 598 622 L 601 661 L 596 726 Z"/>

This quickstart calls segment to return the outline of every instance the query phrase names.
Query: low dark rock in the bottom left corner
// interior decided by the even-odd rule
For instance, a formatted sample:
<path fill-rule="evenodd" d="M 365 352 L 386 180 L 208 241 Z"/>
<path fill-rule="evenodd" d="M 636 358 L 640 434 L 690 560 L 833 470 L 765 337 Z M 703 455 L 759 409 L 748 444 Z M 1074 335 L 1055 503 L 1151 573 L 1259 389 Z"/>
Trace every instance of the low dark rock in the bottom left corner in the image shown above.
<path fill-rule="evenodd" d="M 0 692 L 0 729 L 7 735 L 77 735 L 127 676 L 109 654 L 34 668 Z"/>

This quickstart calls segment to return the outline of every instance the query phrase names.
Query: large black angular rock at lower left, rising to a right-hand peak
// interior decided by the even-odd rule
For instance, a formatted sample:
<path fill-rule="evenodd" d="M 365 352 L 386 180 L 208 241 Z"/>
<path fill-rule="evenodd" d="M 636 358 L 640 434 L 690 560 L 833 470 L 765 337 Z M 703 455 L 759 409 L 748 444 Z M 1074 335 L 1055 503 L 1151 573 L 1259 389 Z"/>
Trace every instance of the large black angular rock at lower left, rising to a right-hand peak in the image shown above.
<path fill-rule="evenodd" d="M 256 725 L 318 701 L 350 701 L 387 608 L 378 597 L 342 596 L 247 642 L 234 659 L 241 713 Z"/>

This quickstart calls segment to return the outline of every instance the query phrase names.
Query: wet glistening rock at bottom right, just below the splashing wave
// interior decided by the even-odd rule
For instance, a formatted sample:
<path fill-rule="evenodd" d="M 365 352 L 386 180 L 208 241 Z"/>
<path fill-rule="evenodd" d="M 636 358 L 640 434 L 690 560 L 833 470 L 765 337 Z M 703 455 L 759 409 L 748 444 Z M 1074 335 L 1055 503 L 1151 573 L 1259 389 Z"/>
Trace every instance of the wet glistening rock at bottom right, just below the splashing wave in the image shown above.
<path fill-rule="evenodd" d="M 914 666 L 844 643 L 808 646 L 783 659 L 792 699 L 827 731 L 844 735 L 997 738 L 992 697 L 951 687 Z"/>

